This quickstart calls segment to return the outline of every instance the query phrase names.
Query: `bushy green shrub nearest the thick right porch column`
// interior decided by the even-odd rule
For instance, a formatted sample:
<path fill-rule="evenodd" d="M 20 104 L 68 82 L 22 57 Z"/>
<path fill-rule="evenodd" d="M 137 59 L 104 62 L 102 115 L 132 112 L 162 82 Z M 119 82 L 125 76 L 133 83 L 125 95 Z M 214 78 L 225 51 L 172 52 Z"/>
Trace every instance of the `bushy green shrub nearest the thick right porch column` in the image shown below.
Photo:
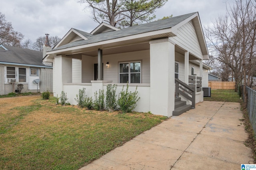
<path fill-rule="evenodd" d="M 138 94 L 137 86 L 136 86 L 135 92 L 128 92 L 128 88 L 129 86 L 127 84 L 126 90 L 124 91 L 124 86 L 123 86 L 122 91 L 118 95 L 118 105 L 122 113 L 129 113 L 133 109 L 135 109 L 135 107 L 137 106 L 136 103 L 140 99 L 137 96 Z"/>

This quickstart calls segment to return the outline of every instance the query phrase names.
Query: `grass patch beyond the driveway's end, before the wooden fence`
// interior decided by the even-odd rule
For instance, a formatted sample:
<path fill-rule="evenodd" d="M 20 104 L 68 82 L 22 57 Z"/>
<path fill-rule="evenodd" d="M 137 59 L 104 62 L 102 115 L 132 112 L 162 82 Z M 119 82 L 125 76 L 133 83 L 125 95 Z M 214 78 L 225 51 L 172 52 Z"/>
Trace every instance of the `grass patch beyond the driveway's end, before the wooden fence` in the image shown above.
<path fill-rule="evenodd" d="M 211 97 L 205 97 L 204 101 L 240 103 L 240 97 L 234 90 L 211 90 Z"/>

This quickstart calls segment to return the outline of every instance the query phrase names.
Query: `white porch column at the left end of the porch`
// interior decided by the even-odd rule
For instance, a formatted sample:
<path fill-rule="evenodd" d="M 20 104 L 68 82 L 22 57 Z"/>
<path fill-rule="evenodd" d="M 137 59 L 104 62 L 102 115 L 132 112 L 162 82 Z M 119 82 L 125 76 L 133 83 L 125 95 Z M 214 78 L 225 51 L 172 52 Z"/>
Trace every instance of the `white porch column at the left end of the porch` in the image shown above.
<path fill-rule="evenodd" d="M 53 86 L 54 96 L 60 96 L 64 83 L 72 82 L 72 58 L 59 55 L 54 57 Z M 67 92 L 66 92 L 67 93 Z"/>

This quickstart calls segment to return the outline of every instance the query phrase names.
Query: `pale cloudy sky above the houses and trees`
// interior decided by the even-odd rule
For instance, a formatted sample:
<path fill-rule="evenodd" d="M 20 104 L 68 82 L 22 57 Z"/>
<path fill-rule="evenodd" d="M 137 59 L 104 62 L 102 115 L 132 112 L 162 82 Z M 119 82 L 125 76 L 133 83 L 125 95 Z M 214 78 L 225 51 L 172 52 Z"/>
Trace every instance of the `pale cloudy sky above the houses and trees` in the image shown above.
<path fill-rule="evenodd" d="M 235 0 L 168 0 L 156 10 L 156 17 L 179 16 L 199 12 L 203 26 L 211 24 L 218 16 L 226 13 L 226 4 L 233 6 Z M 25 39 L 36 38 L 49 33 L 62 38 L 76 28 L 90 33 L 98 23 L 84 10 L 85 4 L 77 0 L 1 0 L 0 12 L 12 22 L 15 31 Z M 87 9 L 88 10 L 88 9 Z"/>

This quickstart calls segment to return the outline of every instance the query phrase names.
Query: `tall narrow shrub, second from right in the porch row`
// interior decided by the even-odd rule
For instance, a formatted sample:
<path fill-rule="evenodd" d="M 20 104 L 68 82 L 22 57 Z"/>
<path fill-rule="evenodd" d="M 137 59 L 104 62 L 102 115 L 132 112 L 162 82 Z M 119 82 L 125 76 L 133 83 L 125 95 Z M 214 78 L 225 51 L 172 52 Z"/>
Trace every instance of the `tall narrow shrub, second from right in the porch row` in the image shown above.
<path fill-rule="evenodd" d="M 116 101 L 116 84 L 108 84 L 107 85 L 107 92 L 106 92 L 106 107 L 108 111 L 114 111 L 117 108 L 117 101 Z"/>

